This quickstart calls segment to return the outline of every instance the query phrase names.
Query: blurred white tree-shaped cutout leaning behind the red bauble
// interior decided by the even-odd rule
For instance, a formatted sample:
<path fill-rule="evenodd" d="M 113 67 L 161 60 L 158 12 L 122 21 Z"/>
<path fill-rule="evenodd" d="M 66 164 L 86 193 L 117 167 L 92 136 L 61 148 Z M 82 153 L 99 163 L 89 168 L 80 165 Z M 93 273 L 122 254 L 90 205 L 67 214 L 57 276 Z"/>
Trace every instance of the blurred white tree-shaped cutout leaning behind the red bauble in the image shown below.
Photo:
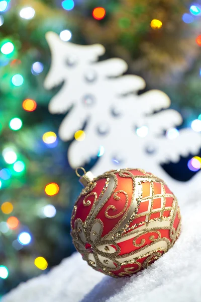
<path fill-rule="evenodd" d="M 197 191 L 200 172 L 190 181 L 172 179 L 161 164 L 178 162 L 180 156 L 196 154 L 201 135 L 182 129 L 174 139 L 165 136 L 169 128 L 181 124 L 166 94 L 151 90 L 138 95 L 145 81 L 136 75 L 122 75 L 127 64 L 119 58 L 97 61 L 104 54 L 100 44 L 80 46 L 63 42 L 53 32 L 46 35 L 52 54 L 45 88 L 63 84 L 49 104 L 51 113 L 70 112 L 59 128 L 63 140 L 72 139 L 86 122 L 85 139 L 74 140 L 68 149 L 72 168 L 99 156 L 95 175 L 118 168 L 142 168 L 164 179 L 180 199 Z"/>

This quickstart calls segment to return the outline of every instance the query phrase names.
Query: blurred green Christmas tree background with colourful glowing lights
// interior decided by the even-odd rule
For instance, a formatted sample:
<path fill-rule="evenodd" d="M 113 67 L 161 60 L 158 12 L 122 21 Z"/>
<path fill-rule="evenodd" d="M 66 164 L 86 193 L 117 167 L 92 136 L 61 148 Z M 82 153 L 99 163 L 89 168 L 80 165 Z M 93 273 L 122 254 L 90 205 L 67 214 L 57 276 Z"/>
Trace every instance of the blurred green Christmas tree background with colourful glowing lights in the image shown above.
<path fill-rule="evenodd" d="M 55 91 L 43 88 L 50 65 L 45 33 L 54 31 L 62 40 L 78 44 L 103 43 L 107 49 L 103 59 L 125 59 L 129 72 L 142 75 L 147 89 L 166 92 L 184 124 L 200 131 L 201 4 L 4 0 L 0 12 L 0 292 L 4 294 L 73 251 L 69 220 L 80 186 L 67 163 L 68 143 L 57 137 L 63 117 L 52 116 L 47 109 Z M 199 167 L 189 165 L 189 169 Z"/>

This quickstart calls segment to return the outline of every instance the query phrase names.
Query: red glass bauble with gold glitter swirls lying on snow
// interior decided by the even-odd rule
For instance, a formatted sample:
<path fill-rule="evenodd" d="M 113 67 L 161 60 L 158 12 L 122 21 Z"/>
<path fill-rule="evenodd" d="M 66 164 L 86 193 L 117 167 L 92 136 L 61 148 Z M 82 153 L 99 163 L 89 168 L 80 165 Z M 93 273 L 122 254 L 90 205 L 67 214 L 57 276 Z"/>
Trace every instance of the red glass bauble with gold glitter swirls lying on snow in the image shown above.
<path fill-rule="evenodd" d="M 122 169 L 86 184 L 74 205 L 71 229 L 77 251 L 92 268 L 122 277 L 146 268 L 173 246 L 180 211 L 161 179 Z"/>

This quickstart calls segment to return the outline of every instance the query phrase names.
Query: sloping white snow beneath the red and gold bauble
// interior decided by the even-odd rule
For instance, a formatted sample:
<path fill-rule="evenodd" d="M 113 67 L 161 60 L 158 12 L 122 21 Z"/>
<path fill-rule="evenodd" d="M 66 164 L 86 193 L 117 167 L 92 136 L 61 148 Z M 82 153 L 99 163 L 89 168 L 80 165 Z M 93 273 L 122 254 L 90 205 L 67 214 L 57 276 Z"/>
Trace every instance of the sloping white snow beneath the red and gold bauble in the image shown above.
<path fill-rule="evenodd" d="M 131 277 L 96 272 L 78 253 L 47 275 L 20 284 L 2 302 L 200 302 L 201 199 L 180 202 L 181 235 L 172 249 Z"/>

